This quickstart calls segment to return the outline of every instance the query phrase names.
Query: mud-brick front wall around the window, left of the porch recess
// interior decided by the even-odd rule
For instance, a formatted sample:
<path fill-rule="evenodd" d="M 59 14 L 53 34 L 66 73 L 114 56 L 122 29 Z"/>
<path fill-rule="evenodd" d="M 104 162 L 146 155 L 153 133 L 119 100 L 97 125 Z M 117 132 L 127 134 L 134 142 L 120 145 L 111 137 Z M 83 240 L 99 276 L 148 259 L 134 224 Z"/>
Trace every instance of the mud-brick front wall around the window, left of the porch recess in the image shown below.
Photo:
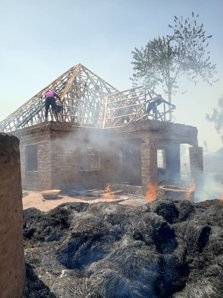
<path fill-rule="evenodd" d="M 52 188 L 69 190 L 98 188 L 102 186 L 102 172 L 96 167 L 93 170 L 93 155 L 87 156 L 89 151 L 84 150 L 88 146 L 98 147 L 97 137 L 89 136 L 76 131 L 51 131 L 51 181 Z M 84 150 L 85 153 L 82 152 Z M 86 169 L 86 160 L 92 163 L 90 169 Z M 98 155 L 95 156 L 98 159 Z M 96 162 L 95 162 L 96 164 Z"/>

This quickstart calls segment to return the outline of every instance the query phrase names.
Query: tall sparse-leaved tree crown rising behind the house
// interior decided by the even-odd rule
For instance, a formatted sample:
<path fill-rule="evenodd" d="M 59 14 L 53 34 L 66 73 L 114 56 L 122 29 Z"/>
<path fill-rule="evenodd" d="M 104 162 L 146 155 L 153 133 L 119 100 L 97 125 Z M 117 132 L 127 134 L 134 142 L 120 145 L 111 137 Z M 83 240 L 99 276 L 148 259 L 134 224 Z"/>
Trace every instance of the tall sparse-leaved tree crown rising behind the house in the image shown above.
<path fill-rule="evenodd" d="M 198 15 L 197 15 L 198 18 Z M 217 80 L 212 80 L 216 74 L 215 66 L 210 62 L 207 51 L 207 40 L 212 35 L 206 36 L 203 24 L 198 25 L 194 13 L 192 18 L 174 17 L 172 35 L 158 37 L 150 40 L 145 49 L 132 51 L 134 74 L 130 80 L 133 86 L 143 84 L 145 88 L 153 90 L 162 85 L 165 94 L 168 94 L 169 103 L 171 96 L 178 89 L 177 80 L 185 75 L 195 85 L 198 77 L 212 86 Z"/>

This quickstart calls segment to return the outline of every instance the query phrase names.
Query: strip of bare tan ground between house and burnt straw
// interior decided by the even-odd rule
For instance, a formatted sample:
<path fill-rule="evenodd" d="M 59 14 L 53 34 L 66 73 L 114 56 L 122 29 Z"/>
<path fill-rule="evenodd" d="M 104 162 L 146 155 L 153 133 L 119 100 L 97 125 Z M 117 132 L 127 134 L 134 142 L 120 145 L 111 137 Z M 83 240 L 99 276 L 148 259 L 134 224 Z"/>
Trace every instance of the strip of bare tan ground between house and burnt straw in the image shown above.
<path fill-rule="evenodd" d="M 28 195 L 23 197 L 23 209 L 35 207 L 37 209 L 40 209 L 41 211 L 48 211 L 50 209 L 55 208 L 56 206 L 66 203 L 66 202 L 85 202 L 85 203 L 97 203 L 100 201 L 114 201 L 104 198 L 95 198 L 95 199 L 89 199 L 89 197 L 70 197 L 68 194 L 60 194 L 57 198 L 54 199 L 47 199 L 45 201 L 42 201 L 43 197 L 40 192 L 38 191 L 26 191 Z M 119 199 L 122 199 L 122 201 L 118 201 L 119 204 L 131 204 L 134 206 L 140 206 L 146 203 L 145 199 L 142 198 L 134 198 L 131 199 L 128 194 L 119 196 Z"/>

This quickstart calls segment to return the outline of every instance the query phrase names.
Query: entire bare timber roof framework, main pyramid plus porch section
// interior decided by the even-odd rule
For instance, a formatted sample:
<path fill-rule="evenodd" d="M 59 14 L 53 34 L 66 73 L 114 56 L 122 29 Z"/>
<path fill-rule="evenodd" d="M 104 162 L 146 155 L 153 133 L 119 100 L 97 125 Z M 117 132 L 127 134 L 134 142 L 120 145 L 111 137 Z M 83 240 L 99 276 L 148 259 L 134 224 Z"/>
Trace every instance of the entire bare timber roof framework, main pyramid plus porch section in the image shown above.
<path fill-rule="evenodd" d="M 81 127 L 112 128 L 128 125 L 155 116 L 146 113 L 146 92 L 142 86 L 118 91 L 82 64 L 70 68 L 14 113 L 0 122 L 0 131 L 11 132 L 45 120 L 45 93 L 53 90 L 62 100 L 60 121 Z M 165 121 L 172 111 L 158 111 L 158 119 Z M 49 111 L 48 120 L 55 115 Z"/>

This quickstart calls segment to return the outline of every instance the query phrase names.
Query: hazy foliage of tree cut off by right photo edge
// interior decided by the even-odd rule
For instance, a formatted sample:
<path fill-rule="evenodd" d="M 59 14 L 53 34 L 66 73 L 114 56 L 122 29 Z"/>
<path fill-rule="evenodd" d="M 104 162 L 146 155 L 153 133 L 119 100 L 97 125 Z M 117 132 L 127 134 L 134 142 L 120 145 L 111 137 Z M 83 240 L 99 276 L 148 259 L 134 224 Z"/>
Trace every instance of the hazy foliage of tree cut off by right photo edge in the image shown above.
<path fill-rule="evenodd" d="M 218 134 L 221 134 L 221 139 L 223 142 L 223 94 L 218 100 L 217 108 L 213 109 L 213 114 L 206 114 L 206 120 L 208 120 L 208 122 L 214 123 L 215 129 Z"/>

